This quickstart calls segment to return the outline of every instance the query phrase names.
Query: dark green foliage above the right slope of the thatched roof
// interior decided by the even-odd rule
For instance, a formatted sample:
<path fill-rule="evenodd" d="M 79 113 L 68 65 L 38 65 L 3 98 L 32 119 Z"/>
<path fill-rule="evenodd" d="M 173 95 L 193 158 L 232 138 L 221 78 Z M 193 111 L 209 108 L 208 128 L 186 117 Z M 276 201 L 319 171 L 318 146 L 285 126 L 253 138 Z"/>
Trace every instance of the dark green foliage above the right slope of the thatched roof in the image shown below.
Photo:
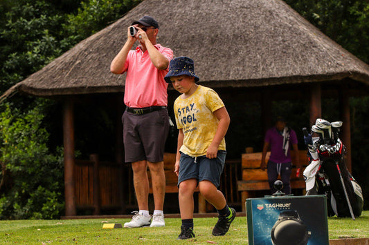
<path fill-rule="evenodd" d="M 369 63 L 369 1 L 285 1 L 325 35 Z"/>

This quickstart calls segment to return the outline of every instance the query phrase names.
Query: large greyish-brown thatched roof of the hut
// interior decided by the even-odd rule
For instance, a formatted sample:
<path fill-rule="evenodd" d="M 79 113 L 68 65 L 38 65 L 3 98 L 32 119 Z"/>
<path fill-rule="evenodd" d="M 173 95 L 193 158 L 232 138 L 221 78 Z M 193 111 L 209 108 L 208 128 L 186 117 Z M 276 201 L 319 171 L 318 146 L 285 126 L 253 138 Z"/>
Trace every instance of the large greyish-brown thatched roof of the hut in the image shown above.
<path fill-rule="evenodd" d="M 151 15 L 158 43 L 195 60 L 208 86 L 249 87 L 351 78 L 369 84 L 369 66 L 281 0 L 146 0 L 81 41 L 15 88 L 37 96 L 123 92 L 111 74 L 132 21 Z M 10 91 L 9 91 L 10 92 Z"/>

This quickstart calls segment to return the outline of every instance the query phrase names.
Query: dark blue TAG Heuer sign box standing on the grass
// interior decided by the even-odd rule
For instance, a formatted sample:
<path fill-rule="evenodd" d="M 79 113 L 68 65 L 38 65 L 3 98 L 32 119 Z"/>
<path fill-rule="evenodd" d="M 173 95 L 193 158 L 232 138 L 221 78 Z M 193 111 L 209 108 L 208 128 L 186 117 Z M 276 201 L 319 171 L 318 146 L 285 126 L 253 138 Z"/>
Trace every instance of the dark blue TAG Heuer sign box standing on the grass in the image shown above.
<path fill-rule="evenodd" d="M 246 199 L 249 245 L 329 244 L 327 197 Z"/>

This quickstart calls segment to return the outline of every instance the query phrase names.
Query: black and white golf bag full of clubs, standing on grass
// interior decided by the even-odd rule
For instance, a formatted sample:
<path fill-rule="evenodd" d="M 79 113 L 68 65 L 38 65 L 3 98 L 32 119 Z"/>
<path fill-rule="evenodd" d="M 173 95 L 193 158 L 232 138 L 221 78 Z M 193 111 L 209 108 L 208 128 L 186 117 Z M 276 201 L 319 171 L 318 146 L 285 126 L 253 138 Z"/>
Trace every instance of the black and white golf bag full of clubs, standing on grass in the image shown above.
<path fill-rule="evenodd" d="M 326 195 L 328 216 L 355 219 L 363 210 L 363 194 L 345 165 L 345 146 L 339 139 L 341 126 L 341 121 L 316 119 L 312 133 L 318 137 L 314 138 L 303 128 L 309 157 L 303 173 L 306 195 Z"/>

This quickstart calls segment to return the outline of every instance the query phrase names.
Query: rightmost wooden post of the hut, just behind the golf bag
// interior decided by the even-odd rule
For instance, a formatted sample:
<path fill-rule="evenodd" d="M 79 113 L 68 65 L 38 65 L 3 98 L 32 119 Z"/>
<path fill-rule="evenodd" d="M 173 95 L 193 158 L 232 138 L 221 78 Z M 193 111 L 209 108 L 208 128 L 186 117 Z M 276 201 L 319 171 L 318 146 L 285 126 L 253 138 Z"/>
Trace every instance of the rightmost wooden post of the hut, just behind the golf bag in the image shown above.
<path fill-rule="evenodd" d="M 345 155 L 345 164 L 351 173 L 351 130 L 350 130 L 350 97 L 345 92 L 345 87 L 341 87 L 339 91 L 339 107 L 342 119 L 341 139 L 346 146 L 347 154 Z"/>

